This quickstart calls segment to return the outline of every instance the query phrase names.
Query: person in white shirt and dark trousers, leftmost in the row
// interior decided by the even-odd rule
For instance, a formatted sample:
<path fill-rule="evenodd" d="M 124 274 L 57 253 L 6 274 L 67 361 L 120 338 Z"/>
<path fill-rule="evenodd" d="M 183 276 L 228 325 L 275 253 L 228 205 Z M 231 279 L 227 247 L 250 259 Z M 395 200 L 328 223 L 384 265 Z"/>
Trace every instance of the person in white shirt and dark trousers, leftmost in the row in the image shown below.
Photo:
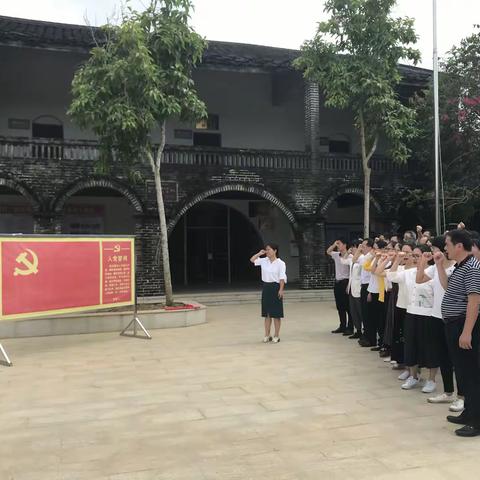
<path fill-rule="evenodd" d="M 349 318 L 349 305 L 347 286 L 350 278 L 350 268 L 348 265 L 344 265 L 341 259 L 348 258 L 347 242 L 343 238 L 336 240 L 327 249 L 327 255 L 330 255 L 335 262 L 335 286 L 333 287 L 333 293 L 335 295 L 335 305 L 338 311 L 338 317 L 340 320 L 340 326 L 333 330 L 332 333 L 348 333 L 353 334 L 353 325 Z M 348 324 L 347 324 L 348 318 Z"/>

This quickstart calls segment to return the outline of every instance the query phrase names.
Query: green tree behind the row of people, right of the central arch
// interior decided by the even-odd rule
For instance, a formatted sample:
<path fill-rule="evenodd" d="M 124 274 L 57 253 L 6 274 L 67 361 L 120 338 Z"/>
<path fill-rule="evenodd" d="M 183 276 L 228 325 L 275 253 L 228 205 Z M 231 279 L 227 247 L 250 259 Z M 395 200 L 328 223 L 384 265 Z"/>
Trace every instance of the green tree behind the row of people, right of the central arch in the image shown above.
<path fill-rule="evenodd" d="M 360 138 L 364 174 L 364 235 L 370 225 L 370 160 L 385 138 L 394 161 L 406 162 L 417 133 L 415 110 L 397 94 L 400 60 L 417 63 L 413 20 L 393 18 L 396 0 L 327 0 L 320 22 L 295 64 L 323 91 L 325 105 L 350 109 Z"/>

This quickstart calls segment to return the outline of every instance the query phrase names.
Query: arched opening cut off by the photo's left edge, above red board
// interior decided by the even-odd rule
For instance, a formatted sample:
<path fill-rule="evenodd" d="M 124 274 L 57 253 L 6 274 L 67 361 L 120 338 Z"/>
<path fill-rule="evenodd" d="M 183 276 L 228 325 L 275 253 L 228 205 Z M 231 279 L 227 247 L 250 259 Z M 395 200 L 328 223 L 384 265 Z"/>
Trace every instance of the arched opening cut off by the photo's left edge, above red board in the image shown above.
<path fill-rule="evenodd" d="M 31 203 L 17 190 L 0 185 L 0 233 L 33 233 Z"/>

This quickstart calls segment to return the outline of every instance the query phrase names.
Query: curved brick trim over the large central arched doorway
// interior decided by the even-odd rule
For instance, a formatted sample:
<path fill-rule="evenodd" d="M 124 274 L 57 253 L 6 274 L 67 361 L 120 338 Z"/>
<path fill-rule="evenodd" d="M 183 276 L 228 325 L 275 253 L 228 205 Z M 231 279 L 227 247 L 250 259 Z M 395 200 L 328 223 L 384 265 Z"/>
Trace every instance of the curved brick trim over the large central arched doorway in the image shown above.
<path fill-rule="evenodd" d="M 298 225 L 295 220 L 295 216 L 291 212 L 291 210 L 285 206 L 285 204 L 279 200 L 275 195 L 271 194 L 270 192 L 267 192 L 263 188 L 254 186 L 254 185 L 245 185 L 243 183 L 236 183 L 236 184 L 228 184 L 228 185 L 222 185 L 219 187 L 212 188 L 211 190 L 207 190 L 205 192 L 199 193 L 195 195 L 190 201 L 188 201 L 180 210 L 177 212 L 177 214 L 168 222 L 168 233 L 171 233 L 173 229 L 175 228 L 175 225 L 179 222 L 179 220 L 187 213 L 188 210 L 190 210 L 194 205 L 197 203 L 201 202 L 202 200 L 206 200 L 208 197 L 211 197 L 212 195 L 216 195 L 217 193 L 223 193 L 223 192 L 246 192 L 246 193 L 253 193 L 255 195 L 258 195 L 259 197 L 264 198 L 265 200 L 268 200 L 271 202 L 273 205 L 278 207 L 288 218 L 290 225 L 295 233 L 298 231 Z"/>

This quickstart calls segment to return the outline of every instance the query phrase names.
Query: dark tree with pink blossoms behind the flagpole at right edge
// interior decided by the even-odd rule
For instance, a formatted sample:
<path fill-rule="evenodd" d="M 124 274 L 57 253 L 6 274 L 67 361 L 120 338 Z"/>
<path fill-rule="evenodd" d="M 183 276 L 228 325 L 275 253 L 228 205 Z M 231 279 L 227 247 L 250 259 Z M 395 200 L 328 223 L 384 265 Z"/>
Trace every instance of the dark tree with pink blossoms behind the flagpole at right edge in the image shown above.
<path fill-rule="evenodd" d="M 447 224 L 467 220 L 480 199 L 480 32 L 463 39 L 441 62 L 439 76 L 440 141 Z M 414 141 L 415 179 L 432 183 L 434 174 L 433 86 L 416 99 L 421 135 Z M 411 189 L 413 208 L 433 206 L 433 187 Z"/>

